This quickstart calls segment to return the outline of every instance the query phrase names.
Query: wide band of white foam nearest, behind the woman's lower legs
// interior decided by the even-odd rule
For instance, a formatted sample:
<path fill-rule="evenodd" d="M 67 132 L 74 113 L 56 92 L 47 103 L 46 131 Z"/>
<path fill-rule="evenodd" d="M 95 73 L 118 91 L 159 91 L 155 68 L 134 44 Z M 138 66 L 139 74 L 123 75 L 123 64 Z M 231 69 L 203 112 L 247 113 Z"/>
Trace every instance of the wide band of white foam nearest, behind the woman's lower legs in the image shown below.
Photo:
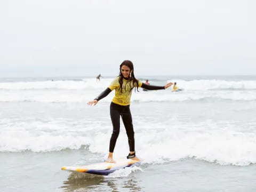
<path fill-rule="evenodd" d="M 111 127 L 93 125 L 93 130 L 83 132 L 60 122 L 28 122 L 10 124 L 1 130 L 0 151 L 35 152 L 79 149 L 89 146 L 93 153 L 107 154 Z M 161 164 L 182 158 L 196 158 L 221 165 L 246 166 L 256 163 L 256 132 L 239 131 L 235 125 L 201 122 L 175 125 L 145 124 L 137 126 L 136 151 L 142 163 Z M 86 127 L 84 127 L 86 129 Z M 126 133 L 121 127 L 114 158 L 129 152 Z M 123 174 L 123 173 L 122 173 Z M 126 174 L 126 173 L 124 173 Z M 129 173 L 130 174 L 130 173 Z"/>

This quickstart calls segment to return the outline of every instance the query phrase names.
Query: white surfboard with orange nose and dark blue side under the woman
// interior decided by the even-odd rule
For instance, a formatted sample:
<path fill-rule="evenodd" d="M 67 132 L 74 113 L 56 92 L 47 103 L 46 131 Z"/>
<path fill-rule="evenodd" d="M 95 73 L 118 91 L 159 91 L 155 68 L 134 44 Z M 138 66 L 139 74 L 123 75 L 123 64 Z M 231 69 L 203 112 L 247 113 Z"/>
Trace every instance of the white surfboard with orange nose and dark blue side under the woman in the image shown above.
<path fill-rule="evenodd" d="M 115 160 L 115 163 L 102 162 L 85 166 L 63 166 L 61 167 L 61 170 L 90 173 L 97 175 L 108 175 L 116 170 L 124 169 L 125 167 L 130 167 L 134 165 L 140 165 L 140 161 L 119 158 Z"/>

